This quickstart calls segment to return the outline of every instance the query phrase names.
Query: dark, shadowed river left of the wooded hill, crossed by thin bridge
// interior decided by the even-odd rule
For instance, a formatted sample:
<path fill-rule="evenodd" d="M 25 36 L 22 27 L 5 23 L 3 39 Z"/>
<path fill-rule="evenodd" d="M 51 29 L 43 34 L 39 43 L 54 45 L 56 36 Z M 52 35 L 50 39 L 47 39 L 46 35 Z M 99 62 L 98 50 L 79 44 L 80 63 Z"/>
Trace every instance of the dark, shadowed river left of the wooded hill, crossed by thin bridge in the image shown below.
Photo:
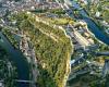
<path fill-rule="evenodd" d="M 26 58 L 20 50 L 13 48 L 11 42 L 4 37 L 4 35 L 0 32 L 0 37 L 2 41 L 0 45 L 7 50 L 10 54 L 10 61 L 13 61 L 15 66 L 17 67 L 17 79 L 29 80 L 29 66 L 26 61 Z M 28 84 L 17 83 L 17 87 L 29 87 Z"/>

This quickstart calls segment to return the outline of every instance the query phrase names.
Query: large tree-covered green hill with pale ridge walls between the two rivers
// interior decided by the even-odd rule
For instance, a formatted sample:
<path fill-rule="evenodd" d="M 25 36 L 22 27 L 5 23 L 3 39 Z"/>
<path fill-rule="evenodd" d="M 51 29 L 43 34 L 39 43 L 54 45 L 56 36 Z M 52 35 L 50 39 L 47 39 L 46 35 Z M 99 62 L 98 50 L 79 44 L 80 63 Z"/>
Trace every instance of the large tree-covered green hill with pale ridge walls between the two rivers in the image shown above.
<path fill-rule="evenodd" d="M 15 15 L 17 26 L 31 38 L 38 60 L 39 87 L 63 87 L 70 72 L 72 46 L 63 30 L 35 21 L 35 16 Z"/>

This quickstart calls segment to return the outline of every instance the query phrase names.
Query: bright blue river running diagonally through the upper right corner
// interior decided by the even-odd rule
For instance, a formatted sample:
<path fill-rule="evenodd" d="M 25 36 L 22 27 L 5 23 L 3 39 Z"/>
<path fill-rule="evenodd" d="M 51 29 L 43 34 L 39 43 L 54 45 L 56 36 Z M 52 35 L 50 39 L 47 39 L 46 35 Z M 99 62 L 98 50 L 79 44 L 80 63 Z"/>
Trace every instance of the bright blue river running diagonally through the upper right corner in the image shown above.
<path fill-rule="evenodd" d="M 71 1 L 72 5 L 80 11 L 80 14 L 83 16 L 82 20 L 84 20 L 87 23 L 88 28 L 90 32 L 95 35 L 97 39 L 99 39 L 101 42 L 109 45 L 109 37 L 106 36 L 100 29 L 100 27 L 93 22 L 92 18 L 88 17 L 87 13 L 81 9 L 80 4 L 77 4 L 75 1 Z M 81 9 L 81 10 L 80 10 Z M 71 16 L 71 15 L 70 15 Z M 81 20 L 81 18 L 80 18 Z"/>

